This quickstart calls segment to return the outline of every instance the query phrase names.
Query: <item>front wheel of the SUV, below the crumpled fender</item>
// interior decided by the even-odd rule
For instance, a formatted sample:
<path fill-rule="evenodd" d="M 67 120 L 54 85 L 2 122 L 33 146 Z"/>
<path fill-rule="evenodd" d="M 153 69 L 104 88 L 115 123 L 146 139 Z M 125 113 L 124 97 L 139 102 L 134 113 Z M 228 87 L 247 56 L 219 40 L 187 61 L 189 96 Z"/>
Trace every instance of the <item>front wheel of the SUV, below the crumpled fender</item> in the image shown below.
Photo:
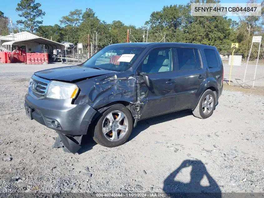
<path fill-rule="evenodd" d="M 122 104 L 115 104 L 97 119 L 93 140 L 106 147 L 124 144 L 133 128 L 130 111 Z"/>

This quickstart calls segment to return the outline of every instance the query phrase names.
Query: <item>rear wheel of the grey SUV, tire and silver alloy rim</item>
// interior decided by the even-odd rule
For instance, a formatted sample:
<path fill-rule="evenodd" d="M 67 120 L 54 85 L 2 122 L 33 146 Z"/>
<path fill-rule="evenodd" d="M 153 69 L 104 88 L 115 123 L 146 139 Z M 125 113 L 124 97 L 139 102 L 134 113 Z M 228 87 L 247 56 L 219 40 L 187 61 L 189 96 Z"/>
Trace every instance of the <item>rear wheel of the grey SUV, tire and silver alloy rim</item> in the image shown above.
<path fill-rule="evenodd" d="M 209 118 L 215 109 L 215 94 L 211 89 L 207 89 L 201 96 L 196 108 L 192 111 L 197 118 Z"/>

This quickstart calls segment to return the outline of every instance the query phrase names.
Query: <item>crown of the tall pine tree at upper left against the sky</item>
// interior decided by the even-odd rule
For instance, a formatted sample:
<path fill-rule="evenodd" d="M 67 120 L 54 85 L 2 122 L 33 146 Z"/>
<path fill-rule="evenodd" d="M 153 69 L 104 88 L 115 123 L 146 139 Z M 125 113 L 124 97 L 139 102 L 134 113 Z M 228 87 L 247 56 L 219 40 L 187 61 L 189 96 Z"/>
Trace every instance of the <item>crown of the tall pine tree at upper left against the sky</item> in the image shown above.
<path fill-rule="evenodd" d="M 33 33 L 43 23 L 43 21 L 37 20 L 37 18 L 45 16 L 45 12 L 39 9 L 40 6 L 41 4 L 35 3 L 35 0 L 21 0 L 20 3 L 17 3 L 16 11 L 21 12 L 18 16 L 26 19 L 18 20 L 17 24 L 23 24 L 25 29 Z"/>

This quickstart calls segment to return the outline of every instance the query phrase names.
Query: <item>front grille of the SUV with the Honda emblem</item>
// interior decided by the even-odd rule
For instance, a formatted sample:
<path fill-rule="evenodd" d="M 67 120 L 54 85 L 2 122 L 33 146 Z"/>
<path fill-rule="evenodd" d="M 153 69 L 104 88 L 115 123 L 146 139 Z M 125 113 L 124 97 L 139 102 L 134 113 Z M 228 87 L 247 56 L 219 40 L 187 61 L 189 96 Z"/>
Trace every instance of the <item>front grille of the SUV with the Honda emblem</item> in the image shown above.
<path fill-rule="evenodd" d="M 48 83 L 49 83 L 48 80 L 33 75 L 31 83 L 29 85 L 30 92 L 38 99 L 44 98 L 48 87 Z"/>

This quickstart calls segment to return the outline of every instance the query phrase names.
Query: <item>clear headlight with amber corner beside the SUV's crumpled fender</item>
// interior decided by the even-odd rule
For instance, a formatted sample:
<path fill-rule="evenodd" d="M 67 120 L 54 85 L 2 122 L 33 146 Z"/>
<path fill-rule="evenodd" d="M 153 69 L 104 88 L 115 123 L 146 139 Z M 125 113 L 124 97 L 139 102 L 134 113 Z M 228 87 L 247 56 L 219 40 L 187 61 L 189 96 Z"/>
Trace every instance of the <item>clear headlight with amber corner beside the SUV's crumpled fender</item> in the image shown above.
<path fill-rule="evenodd" d="M 47 98 L 73 99 L 76 97 L 79 88 L 75 84 L 51 81 L 48 86 Z"/>

